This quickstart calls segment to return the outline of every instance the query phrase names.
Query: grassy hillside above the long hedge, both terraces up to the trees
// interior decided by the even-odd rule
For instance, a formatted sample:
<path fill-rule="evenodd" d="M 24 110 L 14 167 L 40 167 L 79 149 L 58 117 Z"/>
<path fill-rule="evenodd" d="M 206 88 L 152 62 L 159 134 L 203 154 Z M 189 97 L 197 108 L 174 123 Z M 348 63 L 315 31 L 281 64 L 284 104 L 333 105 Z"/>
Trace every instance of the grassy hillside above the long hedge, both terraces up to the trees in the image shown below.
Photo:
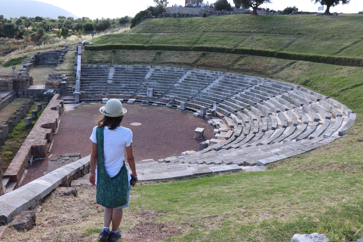
<path fill-rule="evenodd" d="M 95 44 L 165 44 L 253 48 L 363 57 L 363 16 L 249 16 L 147 20 Z"/>

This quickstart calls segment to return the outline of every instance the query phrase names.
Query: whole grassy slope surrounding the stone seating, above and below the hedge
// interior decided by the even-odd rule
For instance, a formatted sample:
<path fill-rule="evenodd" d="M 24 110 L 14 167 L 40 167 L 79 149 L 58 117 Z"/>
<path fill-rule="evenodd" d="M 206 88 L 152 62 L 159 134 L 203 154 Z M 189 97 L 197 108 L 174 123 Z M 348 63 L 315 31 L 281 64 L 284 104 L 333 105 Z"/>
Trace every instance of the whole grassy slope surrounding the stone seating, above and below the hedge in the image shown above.
<path fill-rule="evenodd" d="M 127 34 L 95 42 L 248 48 L 252 33 L 254 48 L 362 57 L 362 17 L 156 19 L 144 21 Z M 346 136 L 270 165 L 266 172 L 137 187 L 130 213 L 165 211 L 152 223 L 183 229 L 181 235 L 166 241 L 287 242 L 295 233 L 313 232 L 326 234 L 332 242 L 363 237 L 362 67 L 159 50 L 86 50 L 82 58 L 83 64 L 177 66 L 271 78 L 333 97 L 357 113 Z"/>

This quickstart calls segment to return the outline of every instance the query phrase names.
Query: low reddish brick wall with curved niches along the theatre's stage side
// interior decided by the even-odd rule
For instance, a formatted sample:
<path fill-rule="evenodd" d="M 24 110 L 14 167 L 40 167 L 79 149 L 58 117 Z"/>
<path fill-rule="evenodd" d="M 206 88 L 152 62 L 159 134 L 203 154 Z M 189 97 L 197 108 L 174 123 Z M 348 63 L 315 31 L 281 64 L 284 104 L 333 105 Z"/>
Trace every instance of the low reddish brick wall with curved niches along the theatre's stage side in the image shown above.
<path fill-rule="evenodd" d="M 57 110 L 57 104 L 59 104 L 59 110 Z M 9 178 L 10 181 L 19 184 L 30 160 L 45 158 L 48 155 L 53 140 L 52 136 L 57 130 L 63 106 L 60 94 L 55 94 L 9 164 L 4 173 L 4 178 Z"/>

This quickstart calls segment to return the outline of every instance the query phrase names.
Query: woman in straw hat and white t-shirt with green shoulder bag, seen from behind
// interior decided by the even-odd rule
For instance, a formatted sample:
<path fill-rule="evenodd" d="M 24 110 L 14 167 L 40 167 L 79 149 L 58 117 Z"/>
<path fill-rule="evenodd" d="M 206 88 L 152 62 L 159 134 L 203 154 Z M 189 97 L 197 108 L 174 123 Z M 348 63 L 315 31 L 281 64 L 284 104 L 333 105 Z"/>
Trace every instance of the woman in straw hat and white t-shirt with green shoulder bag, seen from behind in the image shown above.
<path fill-rule="evenodd" d="M 132 153 L 132 132 L 120 126 L 127 110 L 118 99 L 110 99 L 99 109 L 103 118 L 92 131 L 90 183 L 97 184 L 96 201 L 105 207 L 103 229 L 98 238 L 102 241 L 115 241 L 121 238 L 118 227 L 122 219 L 122 209 L 129 206 L 131 186 L 136 184 L 135 159 Z M 131 168 L 131 180 L 126 167 L 124 154 Z M 130 183 L 131 180 L 131 183 Z M 112 222 L 112 229 L 110 224 Z"/>

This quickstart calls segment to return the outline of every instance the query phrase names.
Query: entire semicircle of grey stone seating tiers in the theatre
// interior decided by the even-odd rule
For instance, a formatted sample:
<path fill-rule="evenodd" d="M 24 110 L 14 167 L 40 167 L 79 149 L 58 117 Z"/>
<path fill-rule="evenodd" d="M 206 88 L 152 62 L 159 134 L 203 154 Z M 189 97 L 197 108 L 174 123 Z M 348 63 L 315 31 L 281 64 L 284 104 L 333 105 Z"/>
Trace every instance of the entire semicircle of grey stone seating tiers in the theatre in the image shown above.
<path fill-rule="evenodd" d="M 196 165 L 192 173 L 208 165 L 265 165 L 298 155 L 338 139 L 355 120 L 342 103 L 303 87 L 219 71 L 83 66 L 81 87 L 85 100 L 166 105 L 208 118 L 216 127 L 208 147 L 159 160 Z"/>

